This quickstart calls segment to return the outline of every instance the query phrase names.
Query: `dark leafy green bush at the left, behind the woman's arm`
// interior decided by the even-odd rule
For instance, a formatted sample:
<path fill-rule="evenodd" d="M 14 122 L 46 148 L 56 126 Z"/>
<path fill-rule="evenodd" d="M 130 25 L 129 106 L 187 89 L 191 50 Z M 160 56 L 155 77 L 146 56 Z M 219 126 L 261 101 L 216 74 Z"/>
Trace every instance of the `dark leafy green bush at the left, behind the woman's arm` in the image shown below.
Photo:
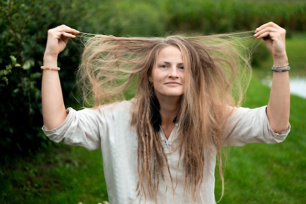
<path fill-rule="evenodd" d="M 6 0 L 0 3 L 1 156 L 34 152 L 48 144 L 41 132 L 40 66 L 47 29 L 61 22 L 63 6 L 60 0 Z M 72 54 L 70 50 L 68 48 L 63 56 Z M 60 61 L 59 65 L 62 64 Z M 73 77 L 68 70 L 61 74 L 65 75 L 63 78 Z M 63 80 L 66 95 L 73 86 L 71 79 Z"/>

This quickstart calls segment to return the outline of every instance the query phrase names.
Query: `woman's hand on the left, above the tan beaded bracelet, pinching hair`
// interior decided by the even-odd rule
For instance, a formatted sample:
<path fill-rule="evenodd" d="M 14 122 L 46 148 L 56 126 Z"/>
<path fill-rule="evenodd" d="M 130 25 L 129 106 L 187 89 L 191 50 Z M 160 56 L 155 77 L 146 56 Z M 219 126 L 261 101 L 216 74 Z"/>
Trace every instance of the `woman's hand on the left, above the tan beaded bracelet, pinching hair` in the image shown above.
<path fill-rule="evenodd" d="M 44 57 L 56 57 L 62 52 L 70 38 L 75 38 L 80 32 L 66 25 L 60 25 L 48 30 Z"/>

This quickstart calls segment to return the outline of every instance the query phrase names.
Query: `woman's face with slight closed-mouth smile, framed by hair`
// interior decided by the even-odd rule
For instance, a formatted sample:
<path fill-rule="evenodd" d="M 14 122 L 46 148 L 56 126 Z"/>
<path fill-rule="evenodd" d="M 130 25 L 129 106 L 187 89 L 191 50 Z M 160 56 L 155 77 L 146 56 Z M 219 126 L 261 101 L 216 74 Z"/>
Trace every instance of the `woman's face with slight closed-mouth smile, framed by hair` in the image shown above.
<path fill-rule="evenodd" d="M 149 77 L 156 97 L 180 97 L 184 93 L 184 78 L 181 51 L 172 45 L 162 48 Z"/>

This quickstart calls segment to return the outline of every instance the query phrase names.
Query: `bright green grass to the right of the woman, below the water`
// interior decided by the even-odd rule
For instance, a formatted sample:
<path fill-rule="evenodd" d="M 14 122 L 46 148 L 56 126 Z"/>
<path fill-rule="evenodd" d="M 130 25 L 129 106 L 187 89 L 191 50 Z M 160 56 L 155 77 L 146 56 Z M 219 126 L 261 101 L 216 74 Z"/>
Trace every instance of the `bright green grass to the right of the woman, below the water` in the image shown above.
<path fill-rule="evenodd" d="M 246 107 L 267 103 L 269 88 L 251 82 Z M 231 147 L 226 162 L 225 195 L 219 204 L 306 203 L 306 99 L 291 96 L 291 132 L 280 144 Z M 221 185 L 216 172 L 216 196 Z"/>

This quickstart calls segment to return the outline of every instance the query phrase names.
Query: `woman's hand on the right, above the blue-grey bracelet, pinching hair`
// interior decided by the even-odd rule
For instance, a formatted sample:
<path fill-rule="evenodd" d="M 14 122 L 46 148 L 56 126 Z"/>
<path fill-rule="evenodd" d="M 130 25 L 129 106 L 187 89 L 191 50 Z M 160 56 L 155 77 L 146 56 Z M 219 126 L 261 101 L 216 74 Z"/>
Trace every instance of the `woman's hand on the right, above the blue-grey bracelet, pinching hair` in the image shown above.
<path fill-rule="evenodd" d="M 267 48 L 272 52 L 273 58 L 287 58 L 285 47 L 286 30 L 276 23 L 269 22 L 256 28 L 257 39 L 263 39 Z"/>

